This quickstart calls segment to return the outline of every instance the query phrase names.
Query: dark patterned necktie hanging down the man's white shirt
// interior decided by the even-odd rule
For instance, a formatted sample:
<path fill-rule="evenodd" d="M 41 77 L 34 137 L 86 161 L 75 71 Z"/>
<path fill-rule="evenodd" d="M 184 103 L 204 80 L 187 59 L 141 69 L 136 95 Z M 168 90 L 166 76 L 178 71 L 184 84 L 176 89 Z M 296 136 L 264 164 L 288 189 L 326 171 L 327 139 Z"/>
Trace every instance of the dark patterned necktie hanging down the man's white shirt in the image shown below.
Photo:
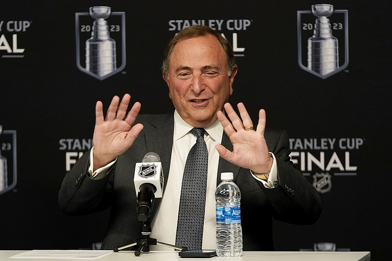
<path fill-rule="evenodd" d="M 181 185 L 175 244 L 188 250 L 201 250 L 205 194 L 207 189 L 208 151 L 202 128 L 193 128 L 197 137 L 185 163 Z"/>

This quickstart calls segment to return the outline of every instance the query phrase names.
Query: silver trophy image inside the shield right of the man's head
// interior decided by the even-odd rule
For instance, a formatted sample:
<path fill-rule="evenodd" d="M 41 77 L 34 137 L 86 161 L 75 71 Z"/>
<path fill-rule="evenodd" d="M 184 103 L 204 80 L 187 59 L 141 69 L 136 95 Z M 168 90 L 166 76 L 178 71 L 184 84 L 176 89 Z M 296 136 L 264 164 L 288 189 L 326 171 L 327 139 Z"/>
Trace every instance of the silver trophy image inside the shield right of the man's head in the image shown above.
<path fill-rule="evenodd" d="M 308 68 L 326 75 L 339 68 L 338 39 L 332 36 L 328 17 L 333 13 L 333 5 L 312 5 L 312 13 L 317 16 L 314 34 L 308 39 Z"/>

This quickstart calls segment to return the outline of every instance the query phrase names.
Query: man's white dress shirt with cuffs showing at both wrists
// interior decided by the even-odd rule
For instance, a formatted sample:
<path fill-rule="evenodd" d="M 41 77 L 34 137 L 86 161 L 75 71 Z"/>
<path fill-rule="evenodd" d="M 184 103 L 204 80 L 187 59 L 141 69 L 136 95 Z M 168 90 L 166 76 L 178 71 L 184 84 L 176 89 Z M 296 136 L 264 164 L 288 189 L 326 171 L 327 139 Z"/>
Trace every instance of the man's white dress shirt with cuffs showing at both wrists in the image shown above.
<path fill-rule="evenodd" d="M 174 136 L 172 146 L 172 158 L 170 163 L 169 178 L 162 197 L 159 209 L 151 222 L 150 237 L 158 241 L 175 244 L 175 234 L 177 229 L 178 209 L 181 194 L 182 176 L 184 173 L 185 162 L 191 147 L 196 143 L 196 137 L 190 133 L 193 126 L 186 123 L 177 111 L 174 112 Z M 223 126 L 217 120 L 211 126 L 204 128 L 204 140 L 208 149 L 208 172 L 207 172 L 207 191 L 204 213 L 203 243 L 202 249 L 216 248 L 216 210 L 215 210 L 215 190 L 217 188 L 217 175 L 219 164 L 219 153 L 215 146 L 220 144 L 223 136 Z M 94 148 L 93 148 L 94 149 Z M 116 160 L 107 166 L 101 167 L 93 172 L 93 149 L 90 154 L 90 176 L 92 179 L 99 179 L 106 175 Z M 258 179 L 266 188 L 273 188 L 272 182 L 277 179 L 275 156 L 270 171 L 268 182 Z M 251 175 L 251 173 L 249 173 Z M 131 188 L 133 189 L 133 188 Z M 169 250 L 164 246 L 150 246 L 150 250 Z"/>

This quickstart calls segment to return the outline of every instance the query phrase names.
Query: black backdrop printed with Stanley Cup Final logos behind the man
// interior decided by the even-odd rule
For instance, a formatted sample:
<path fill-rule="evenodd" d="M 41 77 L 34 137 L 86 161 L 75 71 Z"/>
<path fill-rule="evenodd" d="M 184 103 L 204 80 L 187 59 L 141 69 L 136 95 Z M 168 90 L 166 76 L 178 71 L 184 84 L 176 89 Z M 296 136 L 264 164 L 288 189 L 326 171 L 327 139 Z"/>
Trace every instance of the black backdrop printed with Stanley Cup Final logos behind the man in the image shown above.
<path fill-rule="evenodd" d="M 325 2 L 343 10 L 348 23 L 339 13 L 329 17 L 340 43 L 341 68 L 324 79 L 299 66 L 302 59 L 306 67 L 306 55 L 298 62 L 298 47 L 306 52 L 306 39 L 313 34 L 312 23 L 304 21 L 316 19 L 299 11 L 317 3 L 2 1 L 0 163 L 6 161 L 7 169 L 0 168 L 0 249 L 88 248 L 102 239 L 108 211 L 74 217 L 63 215 L 57 205 L 67 168 L 91 145 L 95 102 L 108 105 L 113 95 L 130 93 L 142 103 L 142 113 L 172 110 L 160 71 L 163 49 L 187 21 L 208 25 L 215 20 L 211 25 L 237 47 L 239 72 L 231 102 L 243 101 L 254 118 L 266 109 L 267 124 L 288 131 L 293 161 L 323 200 L 314 225 L 274 223 L 275 249 L 298 251 L 326 241 L 371 251 L 372 260 L 388 257 L 391 1 Z M 103 80 L 83 71 L 86 26 L 93 19 L 80 13 L 98 5 L 125 15 L 125 26 L 115 14 L 107 19 L 119 25 L 111 36 L 120 70 Z M 83 24 L 75 29 L 76 13 Z"/>

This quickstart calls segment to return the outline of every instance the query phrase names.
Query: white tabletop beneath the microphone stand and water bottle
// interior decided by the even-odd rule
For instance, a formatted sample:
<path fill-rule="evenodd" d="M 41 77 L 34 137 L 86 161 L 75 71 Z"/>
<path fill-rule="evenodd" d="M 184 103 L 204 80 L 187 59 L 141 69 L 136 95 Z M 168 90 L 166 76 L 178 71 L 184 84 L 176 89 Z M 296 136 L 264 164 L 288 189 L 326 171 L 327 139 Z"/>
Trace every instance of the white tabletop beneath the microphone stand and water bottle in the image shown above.
<path fill-rule="evenodd" d="M 39 259 L 9 259 L 19 253 L 26 251 L 21 250 L 1 250 L 1 261 L 38 261 Z M 66 261 L 67 259 L 44 259 L 44 261 Z M 70 261 L 86 261 L 86 259 L 68 259 Z M 133 252 L 123 251 L 110 253 L 106 256 L 96 259 L 98 261 L 369 261 L 370 252 L 243 252 L 239 258 L 198 258 L 184 259 L 178 257 L 177 252 L 172 251 L 151 251 L 142 252 L 136 257 Z"/>

